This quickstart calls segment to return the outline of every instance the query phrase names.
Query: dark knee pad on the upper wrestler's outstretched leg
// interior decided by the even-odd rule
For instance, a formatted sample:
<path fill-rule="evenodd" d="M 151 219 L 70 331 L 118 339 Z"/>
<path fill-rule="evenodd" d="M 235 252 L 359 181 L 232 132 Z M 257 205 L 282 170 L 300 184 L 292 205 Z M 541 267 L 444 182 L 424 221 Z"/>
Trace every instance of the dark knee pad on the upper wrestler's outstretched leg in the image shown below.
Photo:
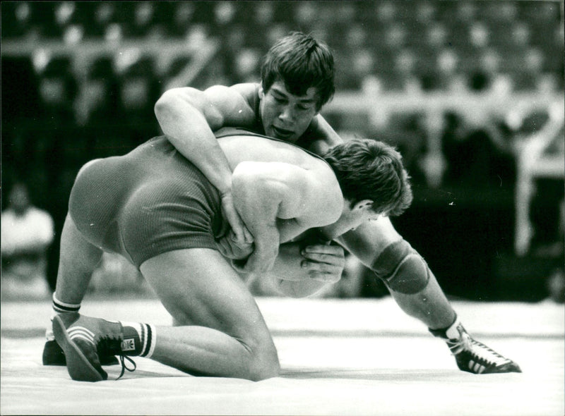
<path fill-rule="evenodd" d="M 407 295 L 420 292 L 429 281 L 427 263 L 405 240 L 388 245 L 371 269 L 391 290 Z"/>

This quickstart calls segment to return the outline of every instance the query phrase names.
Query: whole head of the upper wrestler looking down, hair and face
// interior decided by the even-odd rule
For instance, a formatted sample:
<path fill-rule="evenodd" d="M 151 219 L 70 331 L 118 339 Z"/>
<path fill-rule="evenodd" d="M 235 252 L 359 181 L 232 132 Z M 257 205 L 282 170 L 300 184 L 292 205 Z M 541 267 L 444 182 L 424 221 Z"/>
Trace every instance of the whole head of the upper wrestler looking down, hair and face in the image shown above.
<path fill-rule="evenodd" d="M 261 121 L 266 135 L 295 142 L 335 91 L 326 44 L 292 32 L 270 48 L 261 66 Z"/>

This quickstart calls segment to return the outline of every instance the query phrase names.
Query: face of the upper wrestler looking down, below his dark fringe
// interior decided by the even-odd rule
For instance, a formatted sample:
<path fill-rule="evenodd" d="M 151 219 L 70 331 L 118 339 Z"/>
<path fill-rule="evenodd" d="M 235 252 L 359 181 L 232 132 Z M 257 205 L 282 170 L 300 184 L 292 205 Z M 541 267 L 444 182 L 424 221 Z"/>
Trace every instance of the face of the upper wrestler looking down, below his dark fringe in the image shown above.
<path fill-rule="evenodd" d="M 318 114 L 314 87 L 310 87 L 306 95 L 297 96 L 290 94 L 285 82 L 278 80 L 267 92 L 261 87 L 259 97 L 265 134 L 286 142 L 296 142 Z"/>

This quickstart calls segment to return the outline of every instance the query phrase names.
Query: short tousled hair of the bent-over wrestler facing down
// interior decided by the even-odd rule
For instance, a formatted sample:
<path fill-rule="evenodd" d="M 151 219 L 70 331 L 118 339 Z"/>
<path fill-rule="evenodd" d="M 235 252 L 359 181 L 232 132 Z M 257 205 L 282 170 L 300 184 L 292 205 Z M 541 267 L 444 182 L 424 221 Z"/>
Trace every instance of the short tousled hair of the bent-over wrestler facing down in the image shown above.
<path fill-rule="evenodd" d="M 390 145 L 369 139 L 346 140 L 323 155 L 353 205 L 372 200 L 374 212 L 398 216 L 412 203 L 410 176 Z"/>

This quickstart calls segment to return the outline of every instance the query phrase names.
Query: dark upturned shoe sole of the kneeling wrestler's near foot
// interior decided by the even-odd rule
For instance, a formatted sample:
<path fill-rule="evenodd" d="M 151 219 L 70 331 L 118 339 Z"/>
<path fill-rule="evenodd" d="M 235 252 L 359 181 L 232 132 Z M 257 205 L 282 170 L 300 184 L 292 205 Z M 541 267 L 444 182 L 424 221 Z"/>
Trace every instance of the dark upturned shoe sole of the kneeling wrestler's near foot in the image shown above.
<path fill-rule="evenodd" d="M 71 379 L 76 381 L 102 381 L 104 378 L 85 357 L 81 348 L 69 338 L 66 327 L 60 317 L 53 319 L 53 333 L 66 357 L 66 369 Z"/>

